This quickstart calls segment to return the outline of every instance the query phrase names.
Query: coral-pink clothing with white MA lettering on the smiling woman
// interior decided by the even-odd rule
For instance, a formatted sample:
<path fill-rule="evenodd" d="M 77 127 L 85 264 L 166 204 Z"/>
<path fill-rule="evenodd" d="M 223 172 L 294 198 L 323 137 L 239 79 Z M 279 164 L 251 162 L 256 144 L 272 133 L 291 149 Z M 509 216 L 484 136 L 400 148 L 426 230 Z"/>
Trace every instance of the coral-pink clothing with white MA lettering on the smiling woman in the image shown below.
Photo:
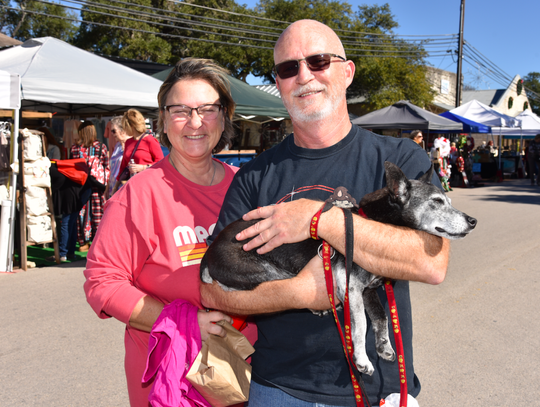
<path fill-rule="evenodd" d="M 213 186 L 194 184 L 166 157 L 137 174 L 105 206 L 87 257 L 84 290 L 100 318 L 128 324 L 148 294 L 164 304 L 180 298 L 201 307 L 199 263 L 235 167 Z M 248 338 L 253 327 L 243 332 Z M 252 337 L 252 336 L 251 336 Z M 132 406 L 148 406 L 152 383 L 141 384 L 149 334 L 127 325 L 125 368 Z"/>

